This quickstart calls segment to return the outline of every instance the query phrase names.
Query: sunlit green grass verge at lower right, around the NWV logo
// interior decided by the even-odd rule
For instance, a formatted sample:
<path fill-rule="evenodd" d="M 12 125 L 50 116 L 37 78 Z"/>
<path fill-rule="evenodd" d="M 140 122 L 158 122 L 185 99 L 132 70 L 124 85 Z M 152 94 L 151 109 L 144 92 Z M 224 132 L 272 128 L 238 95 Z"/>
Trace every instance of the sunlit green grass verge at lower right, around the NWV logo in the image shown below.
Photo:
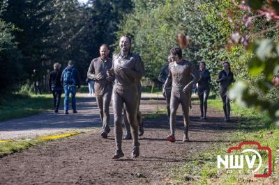
<path fill-rule="evenodd" d="M 209 106 L 221 109 L 222 102 L 219 99 L 209 99 Z M 273 152 L 273 171 L 278 172 L 279 165 L 274 161 L 279 161 L 279 129 L 271 124 L 271 120 L 266 113 L 259 113 L 255 108 L 243 108 L 236 104 L 231 104 L 232 114 L 241 118 L 241 122 L 236 126 L 237 130 L 228 134 L 226 140 L 212 144 L 210 150 L 201 152 L 191 159 L 187 159 L 183 166 L 177 166 L 172 170 L 172 182 L 176 184 L 278 184 L 279 177 L 273 175 L 269 178 L 252 177 L 217 177 L 217 155 L 225 154 L 231 146 L 238 145 L 241 141 L 257 141 L 262 146 L 268 146 Z M 267 156 L 264 156 L 266 160 Z"/>

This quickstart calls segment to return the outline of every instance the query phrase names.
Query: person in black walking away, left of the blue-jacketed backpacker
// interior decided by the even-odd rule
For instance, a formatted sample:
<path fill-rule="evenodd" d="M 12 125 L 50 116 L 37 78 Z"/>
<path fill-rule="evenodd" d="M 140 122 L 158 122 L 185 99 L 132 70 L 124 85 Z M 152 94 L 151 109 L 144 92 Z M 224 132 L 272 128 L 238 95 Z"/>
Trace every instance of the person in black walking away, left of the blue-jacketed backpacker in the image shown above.
<path fill-rule="evenodd" d="M 61 64 L 54 63 L 53 65 L 54 70 L 50 72 L 50 79 L 49 79 L 49 90 L 52 91 L 53 100 L 54 100 L 54 113 L 58 113 L 60 99 L 62 95 L 62 84 L 61 84 Z"/>

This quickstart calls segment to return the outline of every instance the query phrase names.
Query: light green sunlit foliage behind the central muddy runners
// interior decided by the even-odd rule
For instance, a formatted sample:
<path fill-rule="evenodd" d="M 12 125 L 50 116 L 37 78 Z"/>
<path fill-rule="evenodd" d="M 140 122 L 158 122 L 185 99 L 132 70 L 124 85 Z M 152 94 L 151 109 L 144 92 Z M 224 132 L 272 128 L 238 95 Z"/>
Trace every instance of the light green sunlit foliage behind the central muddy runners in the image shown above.
<path fill-rule="evenodd" d="M 133 51 L 142 56 L 147 77 L 156 81 L 169 49 L 176 46 L 179 32 L 190 36 L 190 45 L 183 51 L 186 60 L 195 64 L 205 61 L 211 76 L 216 77 L 220 64 L 228 59 L 223 48 L 231 31 L 229 22 L 218 14 L 232 5 L 230 1 L 133 2 L 133 12 L 126 16 L 116 34 L 132 35 Z M 216 82 L 212 83 L 216 90 Z"/>

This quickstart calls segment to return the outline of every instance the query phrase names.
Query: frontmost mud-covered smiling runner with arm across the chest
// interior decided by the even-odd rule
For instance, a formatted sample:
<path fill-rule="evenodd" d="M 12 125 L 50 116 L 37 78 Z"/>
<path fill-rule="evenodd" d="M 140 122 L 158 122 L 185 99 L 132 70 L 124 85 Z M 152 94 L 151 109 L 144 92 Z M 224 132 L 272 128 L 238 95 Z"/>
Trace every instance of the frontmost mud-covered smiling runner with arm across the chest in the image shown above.
<path fill-rule="evenodd" d="M 133 151 L 132 156 L 140 156 L 140 143 L 138 140 L 137 108 L 139 93 L 137 81 L 140 81 L 144 74 L 140 56 L 130 52 L 131 38 L 123 35 L 119 40 L 121 51 L 114 54 L 112 58 L 112 69 L 107 71 L 111 76 L 115 75 L 115 84 L 112 90 L 112 107 L 114 110 L 114 136 L 116 151 L 112 159 L 119 159 L 124 156 L 122 152 L 122 110 L 126 106 L 128 122 L 132 129 Z"/>

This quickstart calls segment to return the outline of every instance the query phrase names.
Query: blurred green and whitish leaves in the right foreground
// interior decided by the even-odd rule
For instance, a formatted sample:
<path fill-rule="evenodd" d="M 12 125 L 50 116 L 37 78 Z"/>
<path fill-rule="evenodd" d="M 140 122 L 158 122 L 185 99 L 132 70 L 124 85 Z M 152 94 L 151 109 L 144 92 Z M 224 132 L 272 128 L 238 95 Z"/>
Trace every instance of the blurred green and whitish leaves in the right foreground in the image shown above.
<path fill-rule="evenodd" d="M 229 95 L 232 99 L 246 106 L 256 106 L 261 111 L 268 111 L 273 121 L 279 120 L 279 101 L 276 99 L 267 99 L 272 97 L 272 93 L 278 92 L 273 87 L 271 80 L 274 74 L 279 72 L 279 52 L 278 44 L 271 40 L 255 40 L 250 47 L 250 52 L 254 54 L 248 62 L 248 71 L 252 76 L 263 75 L 255 82 L 256 92 L 250 90 L 248 83 L 239 82 L 230 90 Z M 260 95 L 262 94 L 262 96 Z M 275 95 L 276 96 L 276 95 Z"/>

